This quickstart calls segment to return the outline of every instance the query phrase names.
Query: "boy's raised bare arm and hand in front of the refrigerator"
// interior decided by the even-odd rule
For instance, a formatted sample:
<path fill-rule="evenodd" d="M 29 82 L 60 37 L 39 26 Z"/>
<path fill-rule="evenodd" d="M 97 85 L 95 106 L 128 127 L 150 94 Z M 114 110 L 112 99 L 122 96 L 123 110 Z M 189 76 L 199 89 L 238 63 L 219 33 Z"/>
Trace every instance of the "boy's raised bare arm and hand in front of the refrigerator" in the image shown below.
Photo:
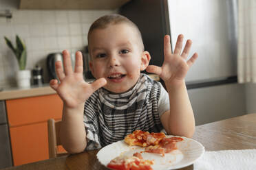
<path fill-rule="evenodd" d="M 161 116 L 161 122 L 168 134 L 178 136 L 193 136 L 195 119 L 186 91 L 184 77 L 190 66 L 198 58 L 198 54 L 186 61 L 191 48 L 191 40 L 187 40 L 182 51 L 183 36 L 179 35 L 175 50 L 171 53 L 170 37 L 164 36 L 164 63 L 162 66 L 148 66 L 147 72 L 158 74 L 169 93 L 170 110 Z M 182 53 L 181 53 L 182 51 Z"/>

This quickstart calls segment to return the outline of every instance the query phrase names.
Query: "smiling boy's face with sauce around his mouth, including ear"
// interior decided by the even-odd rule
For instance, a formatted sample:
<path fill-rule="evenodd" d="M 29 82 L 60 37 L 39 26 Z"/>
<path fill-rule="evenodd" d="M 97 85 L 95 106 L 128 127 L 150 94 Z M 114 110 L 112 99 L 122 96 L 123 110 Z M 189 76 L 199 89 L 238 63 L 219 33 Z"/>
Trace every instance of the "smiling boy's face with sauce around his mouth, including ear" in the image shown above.
<path fill-rule="evenodd" d="M 89 63 L 96 79 L 104 77 L 107 90 L 123 93 L 132 88 L 149 64 L 150 56 L 142 51 L 138 33 L 125 23 L 94 29 L 89 36 Z"/>

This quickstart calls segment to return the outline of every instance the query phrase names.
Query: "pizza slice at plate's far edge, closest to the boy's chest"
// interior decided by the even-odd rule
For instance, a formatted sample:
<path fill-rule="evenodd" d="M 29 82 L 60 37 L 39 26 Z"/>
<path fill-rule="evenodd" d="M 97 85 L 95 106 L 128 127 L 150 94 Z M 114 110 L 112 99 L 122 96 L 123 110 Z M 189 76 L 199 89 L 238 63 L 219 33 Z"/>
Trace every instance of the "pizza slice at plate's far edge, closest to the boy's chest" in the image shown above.
<path fill-rule="evenodd" d="M 147 147 L 149 145 L 158 145 L 164 137 L 165 134 L 162 132 L 149 133 L 142 130 L 135 130 L 132 134 L 125 136 L 125 143 L 131 146 L 137 145 L 140 147 Z"/>

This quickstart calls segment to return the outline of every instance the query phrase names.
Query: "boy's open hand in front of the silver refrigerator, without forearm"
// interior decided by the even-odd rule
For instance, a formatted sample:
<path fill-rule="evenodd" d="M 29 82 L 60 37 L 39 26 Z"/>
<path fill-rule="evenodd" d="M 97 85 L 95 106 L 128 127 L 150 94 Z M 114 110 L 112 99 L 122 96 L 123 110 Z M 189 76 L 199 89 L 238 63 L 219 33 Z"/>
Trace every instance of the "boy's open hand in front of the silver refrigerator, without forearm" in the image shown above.
<path fill-rule="evenodd" d="M 189 50 L 192 45 L 191 40 L 186 41 L 184 50 L 182 51 L 183 35 L 178 36 L 175 49 L 171 53 L 170 36 L 164 36 L 164 63 L 162 66 L 150 65 L 147 67 L 147 72 L 156 73 L 161 77 L 166 84 L 180 84 L 184 83 L 184 78 L 189 68 L 193 65 L 198 58 L 198 53 L 194 53 L 193 56 L 186 61 L 189 55 Z M 182 53 L 181 53 L 182 51 Z"/>

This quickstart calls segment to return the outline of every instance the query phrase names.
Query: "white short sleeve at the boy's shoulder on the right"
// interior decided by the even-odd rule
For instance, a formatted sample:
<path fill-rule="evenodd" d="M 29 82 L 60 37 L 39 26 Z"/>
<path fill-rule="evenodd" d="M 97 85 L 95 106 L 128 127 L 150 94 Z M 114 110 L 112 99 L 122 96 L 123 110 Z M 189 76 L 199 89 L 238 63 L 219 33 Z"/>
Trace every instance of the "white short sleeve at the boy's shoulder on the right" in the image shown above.
<path fill-rule="evenodd" d="M 164 89 L 162 84 L 160 84 L 160 95 L 158 99 L 158 114 L 159 117 L 162 116 L 164 112 L 170 110 L 170 103 L 169 103 L 169 94 L 167 90 Z"/>

